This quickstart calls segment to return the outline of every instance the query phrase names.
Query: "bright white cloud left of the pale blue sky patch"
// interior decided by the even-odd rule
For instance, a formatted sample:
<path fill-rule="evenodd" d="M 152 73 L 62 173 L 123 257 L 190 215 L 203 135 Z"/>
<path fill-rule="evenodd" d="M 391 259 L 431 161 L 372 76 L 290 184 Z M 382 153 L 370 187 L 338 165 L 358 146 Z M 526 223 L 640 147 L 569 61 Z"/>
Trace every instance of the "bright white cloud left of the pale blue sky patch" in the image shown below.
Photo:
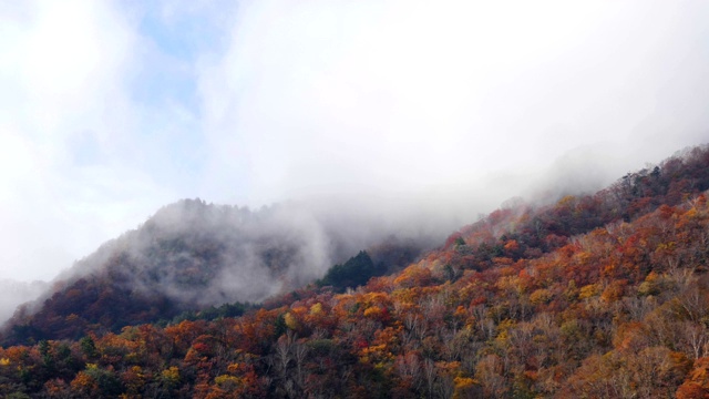
<path fill-rule="evenodd" d="M 0 276 L 49 278 L 166 201 L 132 167 L 138 38 L 110 2 L 6 3 L 0 20 Z"/>

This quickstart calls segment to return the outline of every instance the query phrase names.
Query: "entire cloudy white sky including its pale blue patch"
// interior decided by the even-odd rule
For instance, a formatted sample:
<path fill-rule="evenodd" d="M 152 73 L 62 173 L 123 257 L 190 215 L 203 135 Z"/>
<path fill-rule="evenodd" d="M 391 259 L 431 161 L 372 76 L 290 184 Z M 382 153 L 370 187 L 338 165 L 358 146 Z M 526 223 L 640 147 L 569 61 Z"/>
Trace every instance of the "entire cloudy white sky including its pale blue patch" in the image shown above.
<path fill-rule="evenodd" d="M 0 0 L 0 278 L 51 279 L 185 197 L 462 225 L 599 187 L 709 142 L 708 20 L 699 0 Z"/>

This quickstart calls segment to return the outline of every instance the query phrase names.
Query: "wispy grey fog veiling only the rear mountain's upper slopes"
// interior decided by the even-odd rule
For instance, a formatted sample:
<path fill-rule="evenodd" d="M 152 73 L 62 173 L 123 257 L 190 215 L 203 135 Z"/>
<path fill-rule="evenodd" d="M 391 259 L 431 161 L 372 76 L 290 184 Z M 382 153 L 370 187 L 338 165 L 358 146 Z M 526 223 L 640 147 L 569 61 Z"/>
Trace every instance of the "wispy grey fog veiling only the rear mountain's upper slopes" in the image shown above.
<path fill-rule="evenodd" d="M 162 294 L 184 308 L 260 301 L 322 277 L 361 249 L 398 242 L 423 250 L 441 241 L 429 231 L 391 231 L 366 213 L 349 217 L 305 203 L 251 212 L 186 200 L 78 262 L 55 286 L 97 279 L 97 289 Z"/>

